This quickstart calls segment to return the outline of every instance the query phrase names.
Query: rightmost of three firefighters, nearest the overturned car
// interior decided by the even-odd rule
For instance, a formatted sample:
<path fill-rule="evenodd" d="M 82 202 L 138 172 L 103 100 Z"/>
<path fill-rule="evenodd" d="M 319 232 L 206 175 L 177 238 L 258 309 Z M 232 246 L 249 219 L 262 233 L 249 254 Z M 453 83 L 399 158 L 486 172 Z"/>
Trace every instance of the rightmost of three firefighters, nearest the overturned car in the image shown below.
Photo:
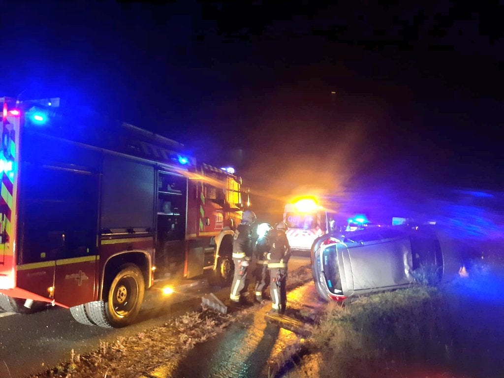
<path fill-rule="evenodd" d="M 288 227 L 285 222 L 275 226 L 274 235 L 270 238 L 271 248 L 267 255 L 271 280 L 271 311 L 283 314 L 287 304 L 285 284 L 287 281 L 287 263 L 290 257 L 290 246 L 285 234 Z"/>

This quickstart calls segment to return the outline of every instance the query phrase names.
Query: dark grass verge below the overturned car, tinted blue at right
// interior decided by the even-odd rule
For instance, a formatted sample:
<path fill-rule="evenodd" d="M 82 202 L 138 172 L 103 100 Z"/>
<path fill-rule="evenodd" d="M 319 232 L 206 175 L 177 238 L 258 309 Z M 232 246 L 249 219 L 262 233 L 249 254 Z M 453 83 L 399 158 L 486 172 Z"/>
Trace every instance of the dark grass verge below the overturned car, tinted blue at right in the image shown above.
<path fill-rule="evenodd" d="M 471 272 L 439 287 L 329 303 L 307 355 L 283 376 L 504 376 L 504 272 L 482 264 Z"/>

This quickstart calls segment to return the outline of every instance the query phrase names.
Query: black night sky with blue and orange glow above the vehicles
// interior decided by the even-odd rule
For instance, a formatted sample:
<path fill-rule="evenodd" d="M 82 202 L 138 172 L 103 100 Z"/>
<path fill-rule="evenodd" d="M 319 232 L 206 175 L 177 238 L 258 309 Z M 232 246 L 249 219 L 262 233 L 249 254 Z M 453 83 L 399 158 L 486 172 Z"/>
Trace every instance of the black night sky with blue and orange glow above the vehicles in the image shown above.
<path fill-rule="evenodd" d="M 59 96 L 178 140 L 234 165 L 264 206 L 502 190 L 498 2 L 12 3 L 2 95 Z"/>

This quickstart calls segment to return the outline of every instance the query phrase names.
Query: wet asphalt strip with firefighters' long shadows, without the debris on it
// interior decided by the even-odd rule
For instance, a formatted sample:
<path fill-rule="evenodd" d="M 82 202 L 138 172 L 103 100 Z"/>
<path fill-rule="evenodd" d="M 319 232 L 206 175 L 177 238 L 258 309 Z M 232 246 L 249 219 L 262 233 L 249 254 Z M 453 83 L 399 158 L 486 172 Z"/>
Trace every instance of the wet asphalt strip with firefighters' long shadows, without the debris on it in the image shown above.
<path fill-rule="evenodd" d="M 313 282 L 309 282 L 287 294 L 286 315 L 299 319 L 303 311 L 318 311 L 324 305 Z M 196 345 L 181 361 L 172 378 L 274 376 L 271 367 L 282 360 L 282 351 L 293 345 L 298 336 L 289 327 L 268 320 L 266 313 L 270 309 L 271 302 L 267 301 L 258 311 L 233 323 L 226 332 Z"/>

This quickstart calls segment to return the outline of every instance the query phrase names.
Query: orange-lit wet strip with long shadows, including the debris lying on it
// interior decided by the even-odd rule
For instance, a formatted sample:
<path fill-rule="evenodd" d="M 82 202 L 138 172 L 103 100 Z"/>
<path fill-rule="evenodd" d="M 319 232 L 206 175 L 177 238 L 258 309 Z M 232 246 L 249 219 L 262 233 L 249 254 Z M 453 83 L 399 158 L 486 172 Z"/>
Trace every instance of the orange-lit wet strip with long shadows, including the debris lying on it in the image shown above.
<path fill-rule="evenodd" d="M 271 301 L 245 308 L 224 333 L 197 344 L 172 376 L 200 376 L 201 372 L 213 377 L 276 376 L 289 368 L 291 354 L 302 356 L 309 336 L 306 325 L 315 322 L 324 306 L 309 282 L 288 292 L 284 315 L 268 313 Z M 233 308 L 229 310 L 233 313 Z"/>

